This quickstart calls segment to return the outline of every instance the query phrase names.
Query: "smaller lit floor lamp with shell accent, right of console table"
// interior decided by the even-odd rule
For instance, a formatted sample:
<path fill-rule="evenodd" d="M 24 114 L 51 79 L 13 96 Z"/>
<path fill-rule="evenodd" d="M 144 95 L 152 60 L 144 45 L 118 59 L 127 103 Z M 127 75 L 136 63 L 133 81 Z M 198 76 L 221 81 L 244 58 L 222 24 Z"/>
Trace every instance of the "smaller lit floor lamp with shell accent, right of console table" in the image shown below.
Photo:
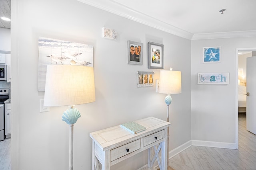
<path fill-rule="evenodd" d="M 170 70 L 160 70 L 159 86 L 158 92 L 167 94 L 164 102 L 167 105 L 167 119 L 169 122 L 169 106 L 172 102 L 172 97 L 170 94 L 181 93 L 181 72 Z M 169 127 L 167 130 L 168 140 L 167 140 L 167 164 L 169 164 Z M 168 167 L 169 169 L 169 167 Z"/>

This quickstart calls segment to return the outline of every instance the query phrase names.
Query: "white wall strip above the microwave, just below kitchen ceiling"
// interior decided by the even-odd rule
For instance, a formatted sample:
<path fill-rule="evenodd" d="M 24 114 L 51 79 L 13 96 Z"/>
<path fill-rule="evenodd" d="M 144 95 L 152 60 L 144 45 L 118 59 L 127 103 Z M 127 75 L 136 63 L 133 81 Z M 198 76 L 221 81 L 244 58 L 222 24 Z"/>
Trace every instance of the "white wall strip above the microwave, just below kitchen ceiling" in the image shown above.
<path fill-rule="evenodd" d="M 11 30 L 0 28 L 0 51 L 11 51 Z"/>

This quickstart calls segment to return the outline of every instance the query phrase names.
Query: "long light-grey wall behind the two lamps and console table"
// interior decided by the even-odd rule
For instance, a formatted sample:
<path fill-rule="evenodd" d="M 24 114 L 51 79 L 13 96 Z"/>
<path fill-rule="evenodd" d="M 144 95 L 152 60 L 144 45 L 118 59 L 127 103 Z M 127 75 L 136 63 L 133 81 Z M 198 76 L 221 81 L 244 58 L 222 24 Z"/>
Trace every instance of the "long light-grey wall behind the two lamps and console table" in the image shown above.
<path fill-rule="evenodd" d="M 102 27 L 116 29 L 116 40 L 103 39 Z M 94 46 L 96 102 L 76 106 L 74 169 L 91 168 L 89 133 L 144 117 L 166 119 L 164 94 L 154 87 L 137 88 L 137 71 L 148 69 L 148 41 L 164 44 L 164 68 L 182 72 L 182 94 L 172 95 L 170 150 L 191 139 L 190 41 L 110 14 L 76 0 L 12 0 L 12 170 L 68 168 L 68 125 L 61 120 L 67 107 L 39 112 L 38 37 Z M 127 64 L 127 41 L 144 44 L 143 65 Z M 29 90 L 29 91 L 28 91 Z M 146 164 L 146 153 L 113 166 L 134 170 Z M 130 161 L 133 161 L 130 164 Z M 125 168 L 124 168 L 125 167 Z"/>

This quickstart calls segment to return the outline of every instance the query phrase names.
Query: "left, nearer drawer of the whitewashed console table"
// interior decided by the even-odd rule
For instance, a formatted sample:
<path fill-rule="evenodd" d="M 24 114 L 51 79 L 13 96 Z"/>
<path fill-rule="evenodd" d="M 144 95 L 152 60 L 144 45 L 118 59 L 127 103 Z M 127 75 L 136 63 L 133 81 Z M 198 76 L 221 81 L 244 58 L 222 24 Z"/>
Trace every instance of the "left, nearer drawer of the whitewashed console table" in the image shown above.
<path fill-rule="evenodd" d="M 140 149 L 140 139 L 110 150 L 110 162 Z"/>

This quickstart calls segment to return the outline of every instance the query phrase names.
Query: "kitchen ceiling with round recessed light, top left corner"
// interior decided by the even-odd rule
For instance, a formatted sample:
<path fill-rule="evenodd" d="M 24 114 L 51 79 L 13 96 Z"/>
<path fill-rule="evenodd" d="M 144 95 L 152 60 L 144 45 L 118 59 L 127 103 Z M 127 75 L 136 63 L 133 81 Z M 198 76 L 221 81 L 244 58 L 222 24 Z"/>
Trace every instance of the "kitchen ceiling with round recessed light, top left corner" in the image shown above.
<path fill-rule="evenodd" d="M 11 0 L 0 0 L 0 17 L 11 18 Z M 11 23 L 0 19 L 0 27 L 11 28 Z"/>

